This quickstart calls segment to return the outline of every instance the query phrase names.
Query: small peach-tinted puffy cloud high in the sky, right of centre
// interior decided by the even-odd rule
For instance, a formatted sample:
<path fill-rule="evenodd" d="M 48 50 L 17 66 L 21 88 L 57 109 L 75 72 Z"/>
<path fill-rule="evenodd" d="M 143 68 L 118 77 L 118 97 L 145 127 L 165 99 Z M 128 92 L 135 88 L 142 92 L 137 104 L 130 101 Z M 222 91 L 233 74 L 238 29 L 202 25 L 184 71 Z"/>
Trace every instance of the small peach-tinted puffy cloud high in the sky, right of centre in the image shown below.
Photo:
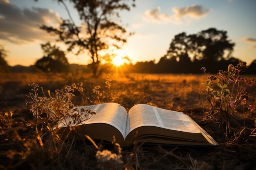
<path fill-rule="evenodd" d="M 146 10 L 145 16 L 143 17 L 146 21 L 153 21 L 157 23 L 163 22 L 173 22 L 173 23 L 180 23 L 182 18 L 190 17 L 190 18 L 202 18 L 205 17 L 211 9 L 205 9 L 201 5 L 191 5 L 189 7 L 184 8 L 177 8 L 174 7 L 173 9 L 174 14 L 164 14 L 161 13 L 161 8 L 157 7 L 153 10 Z"/>

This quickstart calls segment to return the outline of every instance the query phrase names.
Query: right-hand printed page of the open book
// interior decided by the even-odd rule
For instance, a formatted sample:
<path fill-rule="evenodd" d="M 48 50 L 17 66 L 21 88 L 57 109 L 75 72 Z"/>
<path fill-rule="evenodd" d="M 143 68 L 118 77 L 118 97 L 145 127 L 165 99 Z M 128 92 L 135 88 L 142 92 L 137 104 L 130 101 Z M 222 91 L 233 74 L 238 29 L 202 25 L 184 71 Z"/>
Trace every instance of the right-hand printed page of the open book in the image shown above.
<path fill-rule="evenodd" d="M 184 113 L 146 104 L 138 104 L 130 109 L 127 119 L 126 135 L 141 126 L 157 126 L 191 133 L 200 132 Z"/>

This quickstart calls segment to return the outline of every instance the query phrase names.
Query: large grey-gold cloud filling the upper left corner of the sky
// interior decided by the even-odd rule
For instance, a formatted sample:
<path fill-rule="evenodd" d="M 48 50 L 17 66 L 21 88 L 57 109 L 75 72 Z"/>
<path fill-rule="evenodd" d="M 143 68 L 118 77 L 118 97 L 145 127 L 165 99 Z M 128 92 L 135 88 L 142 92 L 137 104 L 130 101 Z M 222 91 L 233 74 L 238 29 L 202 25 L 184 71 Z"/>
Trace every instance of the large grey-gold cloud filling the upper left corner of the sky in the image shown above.
<path fill-rule="evenodd" d="M 0 39 L 15 44 L 50 40 L 51 35 L 39 29 L 40 25 L 58 26 L 58 13 L 49 9 L 20 9 L 8 0 L 0 0 Z"/>

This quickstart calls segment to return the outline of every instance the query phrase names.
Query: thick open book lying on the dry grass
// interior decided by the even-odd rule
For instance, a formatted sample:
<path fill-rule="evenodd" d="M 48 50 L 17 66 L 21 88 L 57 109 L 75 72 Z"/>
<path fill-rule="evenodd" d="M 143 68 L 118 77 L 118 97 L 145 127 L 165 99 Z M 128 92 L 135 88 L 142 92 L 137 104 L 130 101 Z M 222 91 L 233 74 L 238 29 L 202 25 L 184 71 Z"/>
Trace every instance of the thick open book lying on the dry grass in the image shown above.
<path fill-rule="evenodd" d="M 128 113 L 117 103 L 77 108 L 91 108 L 96 113 L 75 127 L 76 132 L 88 135 L 94 140 L 111 142 L 115 136 L 121 147 L 128 147 L 135 141 L 177 146 L 218 146 L 206 131 L 182 112 L 147 104 L 137 104 L 130 108 Z M 66 119 L 70 119 L 66 122 L 71 121 L 71 118 Z M 68 131 L 63 121 L 58 123 L 59 134 L 65 136 Z M 68 138 L 72 137 L 71 134 L 68 135 Z"/>

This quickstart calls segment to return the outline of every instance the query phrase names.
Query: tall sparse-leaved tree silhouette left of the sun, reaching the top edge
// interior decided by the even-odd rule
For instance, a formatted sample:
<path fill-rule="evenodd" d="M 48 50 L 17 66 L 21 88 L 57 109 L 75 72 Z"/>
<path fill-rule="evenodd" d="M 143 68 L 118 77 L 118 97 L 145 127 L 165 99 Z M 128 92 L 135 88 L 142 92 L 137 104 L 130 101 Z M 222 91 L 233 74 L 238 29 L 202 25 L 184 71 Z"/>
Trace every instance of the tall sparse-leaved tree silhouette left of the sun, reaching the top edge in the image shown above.
<path fill-rule="evenodd" d="M 70 0 L 78 11 L 80 20 L 85 29 L 76 26 L 63 0 L 58 0 L 65 5 L 70 15 L 69 20 L 62 20 L 59 28 L 41 26 L 48 33 L 58 35 L 58 40 L 65 42 L 68 51 L 76 49 L 78 55 L 85 50 L 92 59 L 92 71 L 97 75 L 100 63 L 99 51 L 115 46 L 117 49 L 126 43 L 126 29 L 113 20 L 113 16 L 119 18 L 118 10 L 130 10 L 128 4 L 121 3 L 128 0 Z M 135 0 L 132 0 L 135 1 Z M 135 4 L 132 4 L 134 7 Z M 77 48 L 76 48 L 77 47 Z"/>

